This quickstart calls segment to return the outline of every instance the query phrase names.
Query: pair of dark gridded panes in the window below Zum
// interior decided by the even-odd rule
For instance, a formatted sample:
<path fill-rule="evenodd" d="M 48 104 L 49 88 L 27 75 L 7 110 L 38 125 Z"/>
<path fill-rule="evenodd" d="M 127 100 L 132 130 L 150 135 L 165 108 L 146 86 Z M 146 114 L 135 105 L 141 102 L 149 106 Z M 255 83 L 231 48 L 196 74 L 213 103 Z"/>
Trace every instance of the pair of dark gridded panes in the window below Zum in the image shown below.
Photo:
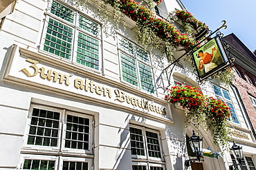
<path fill-rule="evenodd" d="M 89 150 L 90 119 L 71 114 L 64 114 L 65 120 L 62 117 L 61 112 L 33 108 L 27 144 L 58 147 L 60 140 L 66 148 Z M 63 139 L 60 136 L 61 122 L 66 124 Z"/>

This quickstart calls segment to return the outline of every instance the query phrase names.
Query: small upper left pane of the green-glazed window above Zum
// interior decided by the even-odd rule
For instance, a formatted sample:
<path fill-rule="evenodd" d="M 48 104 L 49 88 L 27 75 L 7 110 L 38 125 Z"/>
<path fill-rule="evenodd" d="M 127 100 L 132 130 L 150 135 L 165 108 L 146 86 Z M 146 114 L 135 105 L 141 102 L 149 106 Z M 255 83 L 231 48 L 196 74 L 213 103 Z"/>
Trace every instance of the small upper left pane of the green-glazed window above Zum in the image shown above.
<path fill-rule="evenodd" d="M 73 23 L 74 12 L 69 8 L 62 6 L 60 3 L 53 1 L 51 6 L 51 13 L 55 14 L 57 17 Z"/>

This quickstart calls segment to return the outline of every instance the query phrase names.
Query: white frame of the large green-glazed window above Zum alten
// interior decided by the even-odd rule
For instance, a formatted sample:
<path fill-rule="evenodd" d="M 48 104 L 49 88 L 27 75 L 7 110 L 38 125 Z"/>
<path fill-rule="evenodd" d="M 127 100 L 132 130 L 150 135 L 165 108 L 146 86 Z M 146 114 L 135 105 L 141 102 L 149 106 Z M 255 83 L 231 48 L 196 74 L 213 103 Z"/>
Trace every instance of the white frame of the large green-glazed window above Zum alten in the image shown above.
<path fill-rule="evenodd" d="M 70 10 L 73 10 L 73 12 L 75 12 L 74 14 L 74 23 L 68 22 L 60 17 L 57 17 L 55 14 L 51 13 L 51 6 L 53 1 L 56 1 L 57 3 L 60 3 L 62 6 L 69 8 Z M 42 30 L 42 38 L 40 40 L 40 45 L 39 45 L 39 52 L 42 52 L 43 54 L 47 54 L 50 56 L 53 56 L 54 58 L 60 59 L 61 61 L 65 61 L 66 63 L 72 63 L 73 65 L 76 65 L 77 67 L 82 67 L 82 68 L 86 68 L 87 70 L 91 70 L 93 72 L 101 72 L 101 68 L 102 68 L 102 24 L 99 23 L 98 21 L 95 21 L 95 19 L 91 19 L 91 17 L 87 16 L 86 14 L 80 12 L 79 10 L 68 6 L 68 4 L 64 3 L 63 1 L 59 1 L 59 0 L 51 0 L 48 3 L 48 8 L 45 12 L 45 19 L 44 19 L 44 28 Z M 89 19 L 95 23 L 98 23 L 98 35 L 94 35 L 91 32 L 87 32 L 86 30 L 83 30 L 82 28 L 79 27 L 79 16 L 85 17 L 86 19 Z M 53 54 L 51 52 L 47 52 L 44 50 L 44 43 L 46 41 L 46 32 L 47 32 L 47 27 L 48 27 L 48 21 L 49 19 L 53 19 L 54 21 L 57 21 L 59 23 L 62 23 L 63 25 L 68 26 L 68 28 L 72 28 L 73 29 L 73 37 L 72 37 L 72 42 L 71 42 L 71 59 L 66 59 L 62 56 L 58 56 L 56 54 Z M 77 54 L 77 39 L 78 39 L 78 33 L 82 32 L 82 34 L 86 34 L 86 36 L 91 36 L 93 39 L 97 39 L 98 40 L 98 70 L 92 68 L 92 67 L 88 67 L 86 65 L 82 65 L 80 63 L 77 63 L 76 60 L 76 54 Z"/>

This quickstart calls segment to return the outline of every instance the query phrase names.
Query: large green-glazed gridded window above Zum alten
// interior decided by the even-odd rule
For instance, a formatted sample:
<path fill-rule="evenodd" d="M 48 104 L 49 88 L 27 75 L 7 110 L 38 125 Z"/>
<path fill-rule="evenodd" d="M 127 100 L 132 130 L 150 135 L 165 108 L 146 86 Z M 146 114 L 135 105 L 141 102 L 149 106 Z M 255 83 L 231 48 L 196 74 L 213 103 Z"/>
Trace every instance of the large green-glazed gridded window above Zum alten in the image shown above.
<path fill-rule="evenodd" d="M 44 51 L 99 70 L 100 25 L 57 1 L 47 14 Z"/>

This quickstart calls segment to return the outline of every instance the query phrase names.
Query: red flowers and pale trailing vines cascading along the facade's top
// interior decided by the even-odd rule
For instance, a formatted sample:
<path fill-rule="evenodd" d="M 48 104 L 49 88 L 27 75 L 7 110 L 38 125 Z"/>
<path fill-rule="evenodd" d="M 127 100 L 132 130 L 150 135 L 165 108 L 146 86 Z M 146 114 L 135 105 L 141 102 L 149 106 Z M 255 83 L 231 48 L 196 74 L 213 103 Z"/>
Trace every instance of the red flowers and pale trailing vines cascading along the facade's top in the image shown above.
<path fill-rule="evenodd" d="M 78 3 L 82 4 L 86 1 L 93 1 L 93 3 L 100 6 L 107 17 L 113 17 L 113 19 L 119 23 L 122 18 L 121 13 L 125 14 L 131 20 L 136 21 L 135 30 L 138 31 L 139 41 L 147 47 L 148 45 L 152 48 L 161 48 L 167 54 L 167 58 L 172 58 L 172 51 L 175 47 L 192 47 L 194 38 L 183 34 L 170 22 L 165 19 L 161 19 L 156 16 L 153 12 L 153 6 L 151 5 L 154 1 L 159 5 L 162 0 L 148 0 L 149 4 L 143 6 L 142 3 L 135 2 L 134 0 L 77 0 Z M 113 9 L 109 9 L 107 4 Z M 112 10 L 112 11 L 111 11 Z M 178 12 L 176 13 L 178 14 Z M 183 13 L 186 16 L 186 13 Z M 181 16 L 181 11 L 179 16 Z M 196 22 L 196 25 L 203 25 L 200 21 L 194 19 L 192 15 L 189 17 L 191 21 L 190 25 Z M 179 19 L 179 17 L 178 17 Z M 190 19 L 182 20 L 188 22 Z M 106 22 L 106 21 L 105 21 Z"/>

